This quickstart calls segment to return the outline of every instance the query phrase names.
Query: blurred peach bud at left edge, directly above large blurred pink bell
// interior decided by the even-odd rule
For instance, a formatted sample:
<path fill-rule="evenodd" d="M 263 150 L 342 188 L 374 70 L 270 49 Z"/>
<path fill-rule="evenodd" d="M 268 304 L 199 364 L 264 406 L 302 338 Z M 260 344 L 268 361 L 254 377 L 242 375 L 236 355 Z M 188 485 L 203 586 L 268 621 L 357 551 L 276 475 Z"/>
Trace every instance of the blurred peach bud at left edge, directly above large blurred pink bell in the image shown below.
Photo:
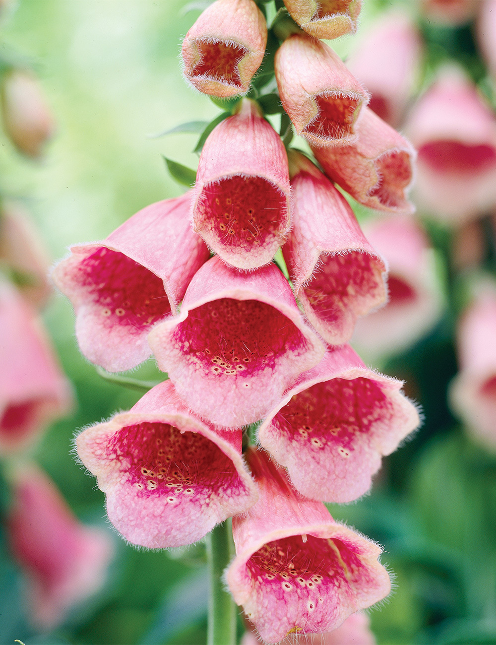
<path fill-rule="evenodd" d="M 0 266 L 19 274 L 17 288 L 35 306 L 50 294 L 50 258 L 34 224 L 19 204 L 8 203 L 0 212 Z"/>

